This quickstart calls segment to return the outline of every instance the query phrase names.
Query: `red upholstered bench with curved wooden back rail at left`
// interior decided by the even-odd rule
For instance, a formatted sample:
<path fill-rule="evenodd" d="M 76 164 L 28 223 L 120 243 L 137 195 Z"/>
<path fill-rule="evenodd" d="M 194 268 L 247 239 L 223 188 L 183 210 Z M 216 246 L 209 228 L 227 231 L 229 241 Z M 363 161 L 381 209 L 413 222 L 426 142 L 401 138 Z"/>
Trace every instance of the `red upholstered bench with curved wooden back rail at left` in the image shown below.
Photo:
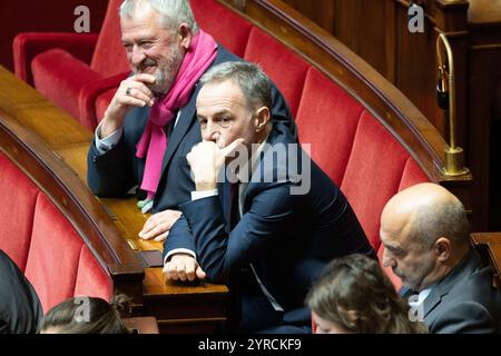
<path fill-rule="evenodd" d="M 0 108 L 0 249 L 43 312 L 73 296 L 143 298 L 144 268 L 87 187 Z M 106 224 L 106 225 L 105 225 Z"/>

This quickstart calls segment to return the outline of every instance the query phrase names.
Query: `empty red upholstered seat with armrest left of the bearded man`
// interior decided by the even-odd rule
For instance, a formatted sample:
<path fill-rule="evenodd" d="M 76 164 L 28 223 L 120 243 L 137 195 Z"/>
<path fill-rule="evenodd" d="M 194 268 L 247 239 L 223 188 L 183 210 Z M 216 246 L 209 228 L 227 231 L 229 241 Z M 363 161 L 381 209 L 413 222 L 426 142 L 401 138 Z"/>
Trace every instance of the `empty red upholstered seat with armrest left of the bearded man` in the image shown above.
<path fill-rule="evenodd" d="M 95 99 L 118 87 L 129 71 L 120 41 L 120 3 L 110 0 L 99 37 L 20 33 L 13 43 L 16 73 L 28 82 L 33 78 L 41 93 L 91 130 L 97 126 Z M 85 50 L 73 42 L 84 42 Z M 109 78 L 114 79 L 111 83 Z"/>

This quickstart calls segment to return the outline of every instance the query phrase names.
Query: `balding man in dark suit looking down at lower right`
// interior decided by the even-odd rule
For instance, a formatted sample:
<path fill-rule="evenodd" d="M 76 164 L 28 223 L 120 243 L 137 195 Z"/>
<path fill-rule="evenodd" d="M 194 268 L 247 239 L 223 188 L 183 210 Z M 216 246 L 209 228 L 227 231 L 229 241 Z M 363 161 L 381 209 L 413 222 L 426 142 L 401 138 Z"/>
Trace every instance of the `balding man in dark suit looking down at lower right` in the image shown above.
<path fill-rule="evenodd" d="M 470 245 L 461 201 L 435 184 L 402 190 L 384 207 L 383 264 L 430 333 L 499 333 L 501 293 Z"/>

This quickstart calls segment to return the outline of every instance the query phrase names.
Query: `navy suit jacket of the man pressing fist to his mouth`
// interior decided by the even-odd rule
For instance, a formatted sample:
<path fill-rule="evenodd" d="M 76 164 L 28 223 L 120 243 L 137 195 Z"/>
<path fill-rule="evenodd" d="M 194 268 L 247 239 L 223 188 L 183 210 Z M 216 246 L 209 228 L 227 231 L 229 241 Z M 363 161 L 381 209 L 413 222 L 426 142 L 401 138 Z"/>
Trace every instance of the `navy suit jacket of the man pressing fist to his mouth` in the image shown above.
<path fill-rule="evenodd" d="M 183 217 L 173 226 L 164 254 L 176 248 L 195 251 L 208 279 L 216 283 L 227 283 L 252 263 L 268 291 L 285 312 L 292 312 L 304 307 L 312 281 L 331 259 L 353 253 L 374 256 L 374 251 L 344 195 L 313 161 L 307 194 L 291 194 L 298 184 L 288 172 L 266 182 L 269 179 L 264 177 L 279 177 L 294 157 L 284 149 L 287 159 L 269 159 L 279 146 L 294 142 L 288 132 L 274 128 L 267 142 L 271 146 L 245 190 L 243 216 L 235 228 L 229 231 L 227 222 L 226 182 L 218 187 L 218 196 L 180 206 Z M 303 155 L 297 152 L 298 171 L 306 170 Z"/>

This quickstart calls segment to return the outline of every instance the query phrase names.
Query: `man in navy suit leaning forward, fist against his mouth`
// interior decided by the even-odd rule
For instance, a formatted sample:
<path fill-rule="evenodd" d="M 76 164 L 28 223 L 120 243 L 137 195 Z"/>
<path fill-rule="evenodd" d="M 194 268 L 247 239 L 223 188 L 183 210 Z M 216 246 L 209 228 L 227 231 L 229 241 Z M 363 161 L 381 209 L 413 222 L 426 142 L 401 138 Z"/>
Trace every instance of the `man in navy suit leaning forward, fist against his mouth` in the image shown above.
<path fill-rule="evenodd" d="M 222 63 L 202 82 L 196 190 L 164 245 L 165 276 L 226 283 L 239 332 L 308 333 L 304 298 L 325 264 L 374 251 L 341 190 L 273 125 L 257 66 Z"/>

